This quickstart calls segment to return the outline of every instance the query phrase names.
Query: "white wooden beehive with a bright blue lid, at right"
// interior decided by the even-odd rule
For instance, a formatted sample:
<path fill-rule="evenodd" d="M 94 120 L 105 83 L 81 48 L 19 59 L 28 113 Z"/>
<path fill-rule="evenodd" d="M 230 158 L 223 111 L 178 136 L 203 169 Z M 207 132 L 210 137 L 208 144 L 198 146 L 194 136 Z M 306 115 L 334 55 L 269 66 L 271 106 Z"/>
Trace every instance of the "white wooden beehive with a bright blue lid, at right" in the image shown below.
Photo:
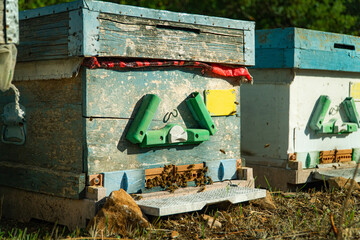
<path fill-rule="evenodd" d="M 268 186 L 265 175 L 286 189 L 313 181 L 316 168 L 353 166 L 359 119 L 345 105 L 360 111 L 360 38 L 285 28 L 256 31 L 255 45 L 256 81 L 241 87 L 241 149 L 259 183 Z"/>

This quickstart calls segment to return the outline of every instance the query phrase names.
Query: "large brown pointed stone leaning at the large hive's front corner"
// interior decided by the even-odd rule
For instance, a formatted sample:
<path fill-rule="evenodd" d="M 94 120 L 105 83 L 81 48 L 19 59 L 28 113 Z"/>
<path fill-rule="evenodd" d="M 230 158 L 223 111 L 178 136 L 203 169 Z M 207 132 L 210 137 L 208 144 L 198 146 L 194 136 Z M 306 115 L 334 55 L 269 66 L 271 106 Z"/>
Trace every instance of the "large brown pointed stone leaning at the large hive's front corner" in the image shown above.
<path fill-rule="evenodd" d="M 123 189 L 114 191 L 106 200 L 104 207 L 90 221 L 88 230 L 96 229 L 98 234 L 128 235 L 128 231 L 149 227 L 140 207 Z"/>

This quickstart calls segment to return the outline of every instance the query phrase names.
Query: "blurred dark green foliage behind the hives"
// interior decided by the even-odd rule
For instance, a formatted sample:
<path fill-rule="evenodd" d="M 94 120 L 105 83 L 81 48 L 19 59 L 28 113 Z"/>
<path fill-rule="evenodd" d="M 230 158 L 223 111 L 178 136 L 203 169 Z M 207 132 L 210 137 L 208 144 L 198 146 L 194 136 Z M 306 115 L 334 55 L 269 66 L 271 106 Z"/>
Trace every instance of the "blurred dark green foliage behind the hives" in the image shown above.
<path fill-rule="evenodd" d="M 20 0 L 32 9 L 71 0 Z M 110 0 L 177 12 L 256 21 L 257 29 L 302 27 L 360 34 L 360 0 Z"/>

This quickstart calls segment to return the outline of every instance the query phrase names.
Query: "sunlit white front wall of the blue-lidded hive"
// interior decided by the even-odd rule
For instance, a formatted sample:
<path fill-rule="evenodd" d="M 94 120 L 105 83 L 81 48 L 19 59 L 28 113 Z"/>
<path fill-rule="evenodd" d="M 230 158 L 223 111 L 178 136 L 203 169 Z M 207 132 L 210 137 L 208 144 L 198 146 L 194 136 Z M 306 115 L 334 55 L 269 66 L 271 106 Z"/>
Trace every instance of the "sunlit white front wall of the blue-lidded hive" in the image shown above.
<path fill-rule="evenodd" d="M 360 131 L 343 135 L 315 135 L 308 121 L 320 95 L 331 99 L 324 122 L 331 118 L 348 121 L 340 104 L 350 96 L 351 82 L 360 82 L 360 74 L 316 70 L 297 71 L 290 86 L 289 149 L 288 152 L 325 151 L 360 147 Z M 360 112 L 360 103 L 355 103 Z M 295 135 L 294 135 L 295 134 Z M 295 139 L 295 141 L 294 141 Z"/>

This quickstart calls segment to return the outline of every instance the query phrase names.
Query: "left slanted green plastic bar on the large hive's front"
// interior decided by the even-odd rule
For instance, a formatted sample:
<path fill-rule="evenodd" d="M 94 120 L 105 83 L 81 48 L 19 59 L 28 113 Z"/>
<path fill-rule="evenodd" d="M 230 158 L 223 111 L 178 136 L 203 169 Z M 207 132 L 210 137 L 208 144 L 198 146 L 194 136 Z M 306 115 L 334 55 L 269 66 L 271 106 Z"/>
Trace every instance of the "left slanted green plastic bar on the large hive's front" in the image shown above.
<path fill-rule="evenodd" d="M 126 134 L 126 139 L 132 143 L 141 143 L 144 140 L 160 101 L 160 98 L 155 94 L 145 95 L 135 119 Z"/>

